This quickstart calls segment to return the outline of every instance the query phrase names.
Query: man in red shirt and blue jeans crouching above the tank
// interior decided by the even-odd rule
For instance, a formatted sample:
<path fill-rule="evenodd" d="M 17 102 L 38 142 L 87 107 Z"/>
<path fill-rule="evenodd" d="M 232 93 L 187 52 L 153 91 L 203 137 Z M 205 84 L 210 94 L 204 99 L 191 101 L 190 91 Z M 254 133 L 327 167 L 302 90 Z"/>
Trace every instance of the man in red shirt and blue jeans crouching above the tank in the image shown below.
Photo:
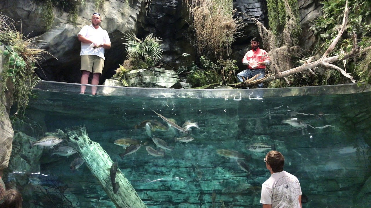
<path fill-rule="evenodd" d="M 265 76 L 266 65 L 270 63 L 270 58 L 267 55 L 267 51 L 259 48 L 259 39 L 254 37 L 250 41 L 251 50 L 247 51 L 242 59 L 243 65 L 248 65 L 246 70 L 241 71 L 237 74 L 237 78 L 240 82 L 243 81 L 242 77 L 251 78 L 256 74 L 260 74 L 256 79 L 263 78 Z M 257 85 L 258 88 L 263 88 L 263 83 Z"/>

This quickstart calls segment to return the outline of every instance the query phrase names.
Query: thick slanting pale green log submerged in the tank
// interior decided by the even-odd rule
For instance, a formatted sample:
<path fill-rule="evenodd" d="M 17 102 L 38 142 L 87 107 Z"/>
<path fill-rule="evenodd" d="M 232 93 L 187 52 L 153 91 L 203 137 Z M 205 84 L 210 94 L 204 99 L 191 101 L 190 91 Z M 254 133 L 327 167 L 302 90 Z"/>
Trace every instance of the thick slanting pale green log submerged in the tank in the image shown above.
<path fill-rule="evenodd" d="M 57 131 L 59 132 L 56 134 L 61 134 L 60 130 Z M 119 172 L 116 172 L 116 182 L 118 182 L 120 188 L 114 194 L 109 175 L 113 161 L 99 143 L 90 140 L 85 127 L 71 127 L 66 129 L 63 139 L 65 140 L 63 141 L 65 145 L 73 147 L 79 152 L 86 166 L 95 175 L 116 207 L 147 208 L 124 174 Z"/>

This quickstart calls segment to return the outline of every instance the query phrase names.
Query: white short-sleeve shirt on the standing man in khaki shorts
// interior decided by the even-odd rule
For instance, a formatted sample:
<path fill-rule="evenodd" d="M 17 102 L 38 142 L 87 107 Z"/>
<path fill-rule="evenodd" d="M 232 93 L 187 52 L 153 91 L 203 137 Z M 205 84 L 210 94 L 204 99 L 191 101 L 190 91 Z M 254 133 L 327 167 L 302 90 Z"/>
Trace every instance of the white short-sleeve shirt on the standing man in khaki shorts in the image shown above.
<path fill-rule="evenodd" d="M 111 43 L 111 40 L 109 40 L 108 33 L 106 30 L 103 30 L 101 27 L 98 29 L 95 29 L 92 25 L 86 25 L 84 26 L 78 35 L 82 35 L 96 43 Z M 90 47 L 89 43 L 82 43 L 81 42 L 81 55 L 96 55 L 99 57 L 104 58 L 104 48 L 92 48 Z"/>

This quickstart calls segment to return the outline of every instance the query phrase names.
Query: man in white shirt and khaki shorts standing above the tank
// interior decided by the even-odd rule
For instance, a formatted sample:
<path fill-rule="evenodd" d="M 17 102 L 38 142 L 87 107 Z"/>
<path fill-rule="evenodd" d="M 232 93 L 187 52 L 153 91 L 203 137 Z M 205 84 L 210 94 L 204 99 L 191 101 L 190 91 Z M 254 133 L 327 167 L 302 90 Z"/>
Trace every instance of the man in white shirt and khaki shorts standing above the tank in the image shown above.
<path fill-rule="evenodd" d="M 99 76 L 104 67 L 104 49 L 111 48 L 107 31 L 99 26 L 101 21 L 101 14 L 94 13 L 92 24 L 84 26 L 77 35 L 81 41 L 81 84 L 88 84 L 90 73 L 93 73 L 91 84 L 99 84 Z M 81 85 L 80 94 L 85 94 L 85 89 L 86 85 Z M 96 89 L 97 87 L 92 87 L 93 95 L 96 94 Z"/>

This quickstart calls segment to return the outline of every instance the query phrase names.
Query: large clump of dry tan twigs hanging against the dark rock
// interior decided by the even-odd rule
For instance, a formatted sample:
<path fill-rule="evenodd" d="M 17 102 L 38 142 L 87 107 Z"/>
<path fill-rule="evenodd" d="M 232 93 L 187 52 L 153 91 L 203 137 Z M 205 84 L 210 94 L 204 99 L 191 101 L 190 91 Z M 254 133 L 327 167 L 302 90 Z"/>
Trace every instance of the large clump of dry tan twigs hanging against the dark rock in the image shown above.
<path fill-rule="evenodd" d="M 193 15 L 195 47 L 199 55 L 229 57 L 237 30 L 244 26 L 233 19 L 233 0 L 185 0 Z"/>

